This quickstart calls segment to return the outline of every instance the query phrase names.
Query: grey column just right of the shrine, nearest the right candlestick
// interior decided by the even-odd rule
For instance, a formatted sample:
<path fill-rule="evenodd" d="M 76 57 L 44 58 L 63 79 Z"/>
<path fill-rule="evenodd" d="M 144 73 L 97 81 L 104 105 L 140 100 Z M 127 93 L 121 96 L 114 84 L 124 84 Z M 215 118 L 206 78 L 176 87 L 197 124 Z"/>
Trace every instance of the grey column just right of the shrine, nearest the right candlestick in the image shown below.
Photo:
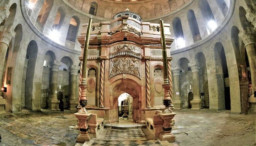
<path fill-rule="evenodd" d="M 174 107 L 175 109 L 182 108 L 181 90 L 180 90 L 180 67 L 172 67 L 173 85 L 174 85 Z"/>

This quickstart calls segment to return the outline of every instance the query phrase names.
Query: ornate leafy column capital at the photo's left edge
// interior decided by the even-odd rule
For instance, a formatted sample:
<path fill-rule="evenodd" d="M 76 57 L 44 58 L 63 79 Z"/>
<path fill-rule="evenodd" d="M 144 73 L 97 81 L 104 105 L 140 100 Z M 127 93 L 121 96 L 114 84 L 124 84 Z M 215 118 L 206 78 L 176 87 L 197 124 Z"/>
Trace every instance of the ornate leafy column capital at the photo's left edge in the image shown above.
<path fill-rule="evenodd" d="M 10 26 L 0 26 L 0 43 L 5 43 L 9 46 L 11 39 L 15 36 L 15 32 Z"/>

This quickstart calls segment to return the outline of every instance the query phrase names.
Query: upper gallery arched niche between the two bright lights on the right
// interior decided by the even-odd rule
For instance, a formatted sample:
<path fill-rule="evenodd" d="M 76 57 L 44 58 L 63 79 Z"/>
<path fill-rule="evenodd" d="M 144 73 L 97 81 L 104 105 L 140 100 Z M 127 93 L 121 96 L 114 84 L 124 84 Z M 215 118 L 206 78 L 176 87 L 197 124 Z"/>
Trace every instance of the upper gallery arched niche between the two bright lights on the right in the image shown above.
<path fill-rule="evenodd" d="M 190 31 L 192 32 L 193 40 L 194 40 L 194 42 L 198 42 L 202 38 L 200 36 L 196 16 L 194 15 L 193 10 L 188 10 L 187 18 L 188 18 L 188 24 L 190 26 Z"/>

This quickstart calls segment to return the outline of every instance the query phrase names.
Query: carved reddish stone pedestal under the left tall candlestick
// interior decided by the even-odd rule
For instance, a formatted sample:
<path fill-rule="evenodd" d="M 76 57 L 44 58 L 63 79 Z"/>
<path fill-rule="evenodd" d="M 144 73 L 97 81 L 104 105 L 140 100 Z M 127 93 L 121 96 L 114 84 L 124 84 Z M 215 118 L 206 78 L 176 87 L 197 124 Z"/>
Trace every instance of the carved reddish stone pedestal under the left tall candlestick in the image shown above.
<path fill-rule="evenodd" d="M 87 125 L 87 121 L 91 117 L 91 113 L 88 114 L 80 114 L 75 113 L 74 114 L 76 118 L 78 118 L 78 127 L 80 134 L 76 138 L 76 141 L 79 143 L 84 143 L 85 141 L 90 141 L 92 139 L 92 136 L 89 134 L 89 127 Z"/>

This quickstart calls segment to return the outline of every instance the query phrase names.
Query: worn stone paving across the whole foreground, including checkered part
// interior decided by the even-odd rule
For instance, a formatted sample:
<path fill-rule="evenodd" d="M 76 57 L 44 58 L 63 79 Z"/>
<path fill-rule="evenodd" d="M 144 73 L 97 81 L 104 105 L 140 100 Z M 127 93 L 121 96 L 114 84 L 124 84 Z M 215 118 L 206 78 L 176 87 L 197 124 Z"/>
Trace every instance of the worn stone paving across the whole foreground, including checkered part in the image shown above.
<path fill-rule="evenodd" d="M 97 139 L 76 143 L 78 130 L 72 112 L 31 112 L 0 114 L 0 146 L 255 146 L 256 115 L 229 114 L 228 111 L 175 111 L 176 142 L 150 140 L 145 129 L 104 129 Z M 142 131 L 143 130 L 143 131 Z M 133 139 L 125 137 L 133 136 Z"/>

